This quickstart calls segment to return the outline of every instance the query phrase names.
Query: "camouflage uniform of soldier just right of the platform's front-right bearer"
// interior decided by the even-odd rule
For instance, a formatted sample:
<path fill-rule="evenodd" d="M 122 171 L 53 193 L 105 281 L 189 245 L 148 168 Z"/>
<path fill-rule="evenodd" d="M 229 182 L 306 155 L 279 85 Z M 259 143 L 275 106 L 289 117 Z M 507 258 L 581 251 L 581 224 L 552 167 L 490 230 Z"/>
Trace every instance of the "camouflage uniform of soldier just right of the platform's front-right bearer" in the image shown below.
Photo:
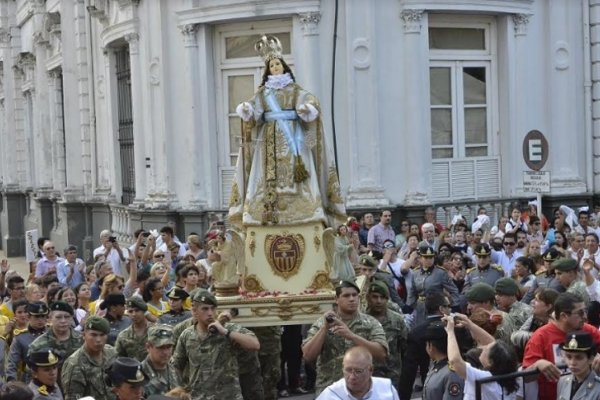
<path fill-rule="evenodd" d="M 373 362 L 373 376 L 389 378 L 394 387 L 398 387 L 402 371 L 402 355 L 406 350 L 408 328 L 404 323 L 404 316 L 388 310 L 383 319 L 378 319 L 383 327 L 388 344 L 388 355 L 385 362 Z"/>

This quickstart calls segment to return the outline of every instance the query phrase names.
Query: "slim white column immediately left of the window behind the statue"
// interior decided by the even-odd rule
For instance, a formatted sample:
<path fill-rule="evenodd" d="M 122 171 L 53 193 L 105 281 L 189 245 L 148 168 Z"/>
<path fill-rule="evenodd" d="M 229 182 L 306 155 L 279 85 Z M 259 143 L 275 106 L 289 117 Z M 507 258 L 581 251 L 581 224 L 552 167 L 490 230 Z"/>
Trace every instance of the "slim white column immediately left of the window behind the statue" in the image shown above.
<path fill-rule="evenodd" d="M 186 61 L 186 74 L 187 81 L 189 82 L 190 88 L 190 101 L 191 101 L 191 129 L 186 134 L 186 143 L 189 144 L 186 151 L 186 159 L 189 161 L 189 166 L 185 169 L 188 171 L 194 171 L 189 175 L 191 180 L 191 200 L 189 207 L 193 209 L 202 209 L 206 207 L 208 198 L 208 188 L 206 187 L 206 181 L 204 177 L 208 174 L 198 173 L 195 166 L 202 165 L 204 163 L 202 157 L 202 146 L 201 146 L 201 105 L 203 101 L 202 94 L 206 93 L 201 89 L 203 83 L 200 82 L 199 76 L 199 56 L 198 56 L 198 41 L 196 33 L 198 31 L 198 24 L 187 24 L 181 26 L 181 34 L 183 35 L 183 47 L 185 51 Z M 204 166 L 207 167 L 206 165 Z M 210 169 L 204 169 L 204 171 L 210 171 Z"/>

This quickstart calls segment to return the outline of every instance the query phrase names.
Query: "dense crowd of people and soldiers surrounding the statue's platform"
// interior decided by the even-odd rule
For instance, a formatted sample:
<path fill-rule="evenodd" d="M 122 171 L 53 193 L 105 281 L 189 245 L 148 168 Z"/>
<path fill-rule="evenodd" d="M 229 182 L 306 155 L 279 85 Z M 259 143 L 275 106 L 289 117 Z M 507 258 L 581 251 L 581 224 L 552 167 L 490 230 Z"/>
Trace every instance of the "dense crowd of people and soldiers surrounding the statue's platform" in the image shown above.
<path fill-rule="evenodd" d="M 311 326 L 217 312 L 223 223 L 184 242 L 140 229 L 128 247 L 102 231 L 89 265 L 41 238 L 29 276 L 0 263 L 0 399 L 474 399 L 482 379 L 485 399 L 600 395 L 597 212 L 424 220 L 338 227 L 335 307 Z"/>

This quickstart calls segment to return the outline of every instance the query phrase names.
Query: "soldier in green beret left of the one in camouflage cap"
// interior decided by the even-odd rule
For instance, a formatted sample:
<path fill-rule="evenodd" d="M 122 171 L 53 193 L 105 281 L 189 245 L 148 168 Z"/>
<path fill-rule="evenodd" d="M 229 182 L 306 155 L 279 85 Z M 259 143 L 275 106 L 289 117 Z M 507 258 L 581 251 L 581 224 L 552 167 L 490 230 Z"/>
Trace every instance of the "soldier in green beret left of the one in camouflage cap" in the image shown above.
<path fill-rule="evenodd" d="M 115 349 L 106 344 L 110 332 L 108 321 L 97 315 L 87 319 L 83 346 L 64 363 L 61 381 L 65 400 L 91 396 L 95 400 L 115 400 L 116 396 L 104 380 L 104 370 L 117 357 Z"/>

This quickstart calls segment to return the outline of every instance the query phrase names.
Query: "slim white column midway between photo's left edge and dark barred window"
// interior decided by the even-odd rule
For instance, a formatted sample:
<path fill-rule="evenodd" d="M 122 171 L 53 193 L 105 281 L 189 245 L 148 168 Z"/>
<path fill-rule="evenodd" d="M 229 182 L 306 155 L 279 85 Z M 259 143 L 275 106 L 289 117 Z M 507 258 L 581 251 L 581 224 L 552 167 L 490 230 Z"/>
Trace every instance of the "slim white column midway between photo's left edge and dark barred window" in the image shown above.
<path fill-rule="evenodd" d="M 62 69 L 55 68 L 48 74 L 48 100 L 50 105 L 50 153 L 52 154 L 53 189 L 62 192 L 66 185 L 65 131 L 62 104 Z M 77 156 L 78 157 L 78 156 Z"/>

